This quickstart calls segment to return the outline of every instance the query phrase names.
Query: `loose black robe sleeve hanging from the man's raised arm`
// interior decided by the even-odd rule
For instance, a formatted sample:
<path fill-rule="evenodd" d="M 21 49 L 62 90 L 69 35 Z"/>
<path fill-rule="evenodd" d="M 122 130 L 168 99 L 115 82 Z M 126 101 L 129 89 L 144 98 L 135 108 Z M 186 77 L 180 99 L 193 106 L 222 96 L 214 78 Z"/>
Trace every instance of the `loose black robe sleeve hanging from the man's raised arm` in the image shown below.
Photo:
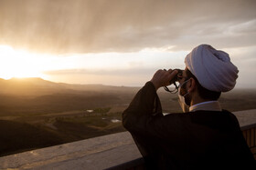
<path fill-rule="evenodd" d="M 146 167 L 157 169 L 157 156 L 159 150 L 154 140 L 150 140 L 147 125 L 153 117 L 161 117 L 162 108 L 155 85 L 147 82 L 134 96 L 133 101 L 123 112 L 123 126 L 131 133 L 139 151 L 144 156 Z"/>

